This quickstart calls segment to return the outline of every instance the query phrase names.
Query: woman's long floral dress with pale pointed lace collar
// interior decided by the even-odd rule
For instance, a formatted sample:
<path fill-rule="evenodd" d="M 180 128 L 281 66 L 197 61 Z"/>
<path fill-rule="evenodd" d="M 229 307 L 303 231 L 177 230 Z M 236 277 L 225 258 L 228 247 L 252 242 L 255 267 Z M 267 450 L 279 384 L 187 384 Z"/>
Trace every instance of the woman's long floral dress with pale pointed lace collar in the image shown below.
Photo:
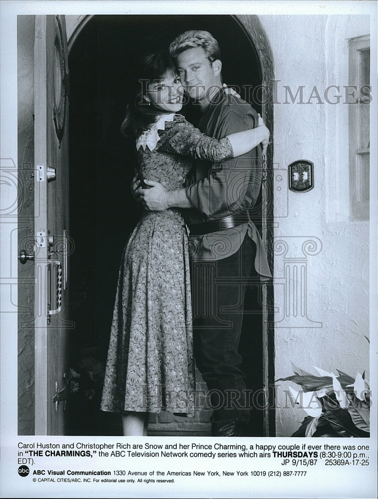
<path fill-rule="evenodd" d="M 159 131 L 159 133 L 158 133 Z M 181 188 L 192 159 L 223 161 L 227 138 L 163 114 L 137 140 L 139 174 Z M 101 409 L 193 416 L 195 389 L 188 240 L 179 209 L 145 211 L 119 270 Z"/>

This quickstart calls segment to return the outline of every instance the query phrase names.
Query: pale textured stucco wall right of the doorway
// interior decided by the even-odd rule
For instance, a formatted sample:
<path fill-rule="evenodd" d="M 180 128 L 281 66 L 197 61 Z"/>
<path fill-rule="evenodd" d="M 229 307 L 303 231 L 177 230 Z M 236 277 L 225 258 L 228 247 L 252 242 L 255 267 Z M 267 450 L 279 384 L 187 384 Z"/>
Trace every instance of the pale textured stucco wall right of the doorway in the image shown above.
<path fill-rule="evenodd" d="M 274 106 L 276 379 L 293 374 L 291 362 L 314 374 L 317 366 L 355 376 L 369 370 L 364 337 L 369 336 L 369 223 L 349 220 L 348 105 L 345 97 L 339 104 L 327 103 L 324 91 L 348 85 L 348 38 L 368 34 L 369 17 L 260 20 L 279 80 Z M 299 104 L 298 96 L 292 103 L 290 96 L 285 99 L 284 85 L 294 96 L 303 85 L 303 102 L 314 98 Z M 312 94 L 314 85 L 324 103 L 316 91 Z M 330 91 L 329 100 L 336 93 Z M 315 171 L 314 189 L 301 194 L 289 191 L 287 182 L 288 165 L 300 159 L 312 161 Z M 301 303 L 303 315 L 295 309 Z M 302 409 L 284 408 L 288 386 L 277 383 L 277 436 L 290 436 L 306 416 Z"/>

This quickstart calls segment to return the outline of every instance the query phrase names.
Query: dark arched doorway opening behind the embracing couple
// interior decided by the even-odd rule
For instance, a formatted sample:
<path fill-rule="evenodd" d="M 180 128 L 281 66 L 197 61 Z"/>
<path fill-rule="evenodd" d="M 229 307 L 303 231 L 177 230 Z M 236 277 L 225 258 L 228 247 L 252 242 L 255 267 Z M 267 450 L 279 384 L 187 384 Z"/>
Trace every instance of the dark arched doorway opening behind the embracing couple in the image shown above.
<path fill-rule="evenodd" d="M 94 16 L 70 50 L 70 236 L 75 244 L 70 262 L 71 319 L 75 328 L 70 345 L 71 366 L 80 374 L 76 381 L 73 379 L 79 388 L 72 397 L 70 433 L 74 435 L 121 434 L 118 418 L 98 410 L 119 262 L 140 215 L 129 187 L 134 172 L 134 142 L 125 139 L 119 128 L 139 55 L 166 49 L 178 33 L 187 29 L 204 29 L 214 35 L 220 43 L 224 81 L 240 90 L 242 98 L 263 114 L 261 100 L 254 98 L 253 92 L 262 84 L 259 57 L 250 37 L 232 16 Z M 185 113 L 195 123 L 190 108 Z M 260 232 L 264 226 L 262 205 L 261 194 L 251 214 Z M 241 340 L 243 368 L 247 388 L 261 395 L 266 384 L 264 358 L 269 355 L 263 335 L 261 287 L 250 286 L 247 300 L 250 314 Z M 272 355 L 269 360 L 272 370 Z M 250 433 L 262 436 L 266 411 L 261 396 L 254 404 L 261 408 L 252 411 Z M 206 435 L 206 421 L 201 426 L 201 418 L 195 419 L 182 423 L 186 434 Z M 177 435 L 183 431 L 177 425 L 180 423 L 166 425 L 168 433 L 164 433 L 161 425 L 152 423 L 149 434 Z M 170 428 L 175 428 L 175 433 L 169 433 Z"/>

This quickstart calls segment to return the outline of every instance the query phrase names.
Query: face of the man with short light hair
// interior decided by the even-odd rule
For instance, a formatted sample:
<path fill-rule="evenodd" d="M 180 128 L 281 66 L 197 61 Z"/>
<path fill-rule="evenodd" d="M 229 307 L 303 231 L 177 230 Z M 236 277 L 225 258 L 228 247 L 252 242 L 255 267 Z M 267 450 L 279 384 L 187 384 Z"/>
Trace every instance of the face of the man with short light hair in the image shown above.
<path fill-rule="evenodd" d="M 217 84 L 213 66 L 202 47 L 188 48 L 177 56 L 181 84 L 196 102 L 204 102 L 210 88 Z"/>

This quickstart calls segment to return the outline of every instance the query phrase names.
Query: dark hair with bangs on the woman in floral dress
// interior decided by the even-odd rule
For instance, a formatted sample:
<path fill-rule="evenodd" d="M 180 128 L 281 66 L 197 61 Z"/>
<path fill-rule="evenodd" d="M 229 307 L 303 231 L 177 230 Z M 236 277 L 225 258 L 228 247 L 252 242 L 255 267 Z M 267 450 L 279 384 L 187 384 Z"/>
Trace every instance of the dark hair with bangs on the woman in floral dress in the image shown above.
<path fill-rule="evenodd" d="M 164 113 L 163 110 L 149 105 L 144 99 L 147 84 L 153 80 L 163 79 L 167 73 L 177 74 L 175 63 L 169 52 L 160 50 L 142 57 L 137 69 L 138 79 L 131 92 L 131 100 L 126 109 L 126 116 L 121 124 L 123 135 L 133 133 L 138 137 L 144 130 L 154 123 L 156 117 Z"/>

